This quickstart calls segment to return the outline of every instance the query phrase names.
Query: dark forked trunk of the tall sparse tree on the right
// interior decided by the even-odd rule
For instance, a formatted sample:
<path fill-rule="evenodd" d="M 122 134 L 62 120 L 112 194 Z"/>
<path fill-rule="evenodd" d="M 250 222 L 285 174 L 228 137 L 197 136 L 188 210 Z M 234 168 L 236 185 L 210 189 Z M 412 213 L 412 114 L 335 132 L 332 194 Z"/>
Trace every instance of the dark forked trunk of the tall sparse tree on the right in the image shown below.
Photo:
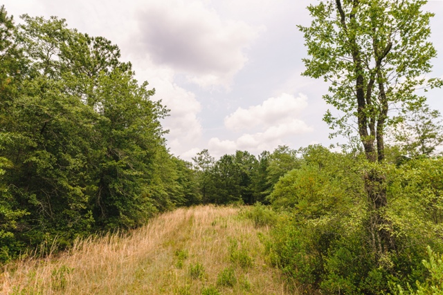
<path fill-rule="evenodd" d="M 352 13 L 349 15 L 351 20 L 355 17 L 355 12 L 359 9 L 359 4 L 358 0 L 352 2 L 353 9 Z M 347 16 L 341 6 L 341 0 L 336 0 L 336 7 L 341 16 L 340 21 L 343 30 L 347 32 Z M 392 44 L 389 43 L 386 48 L 383 48 L 383 52 L 379 52 L 379 44 L 377 43 L 377 40 L 374 40 L 374 57 L 377 60 L 376 71 L 372 73 L 369 81 L 365 81 L 362 74 L 362 54 L 354 35 L 348 35 L 348 41 L 355 66 L 357 122 L 359 124 L 360 140 L 365 150 L 366 159 L 371 163 L 382 162 L 384 159 L 383 128 L 388 114 L 388 104 L 386 93 L 383 88 L 383 77 L 381 77 L 379 67 L 383 58 L 389 53 Z M 372 102 L 371 95 L 372 87 L 375 82 L 375 75 L 377 75 L 377 82 L 381 95 L 381 109 L 379 110 L 378 115 L 368 109 L 371 108 L 374 103 Z M 377 131 L 374 126 L 375 122 L 377 122 Z M 370 132 L 368 132 L 368 129 Z M 384 218 L 384 211 L 388 205 L 388 199 L 386 196 L 386 177 L 378 169 L 370 169 L 370 171 L 363 176 L 363 180 L 365 183 L 365 191 L 368 196 L 369 224 L 367 229 L 371 240 L 372 250 L 374 251 L 374 254 L 376 254 L 377 259 L 379 259 L 388 251 L 395 250 L 395 238 L 390 234 L 389 230 L 392 224 L 389 220 Z"/>

